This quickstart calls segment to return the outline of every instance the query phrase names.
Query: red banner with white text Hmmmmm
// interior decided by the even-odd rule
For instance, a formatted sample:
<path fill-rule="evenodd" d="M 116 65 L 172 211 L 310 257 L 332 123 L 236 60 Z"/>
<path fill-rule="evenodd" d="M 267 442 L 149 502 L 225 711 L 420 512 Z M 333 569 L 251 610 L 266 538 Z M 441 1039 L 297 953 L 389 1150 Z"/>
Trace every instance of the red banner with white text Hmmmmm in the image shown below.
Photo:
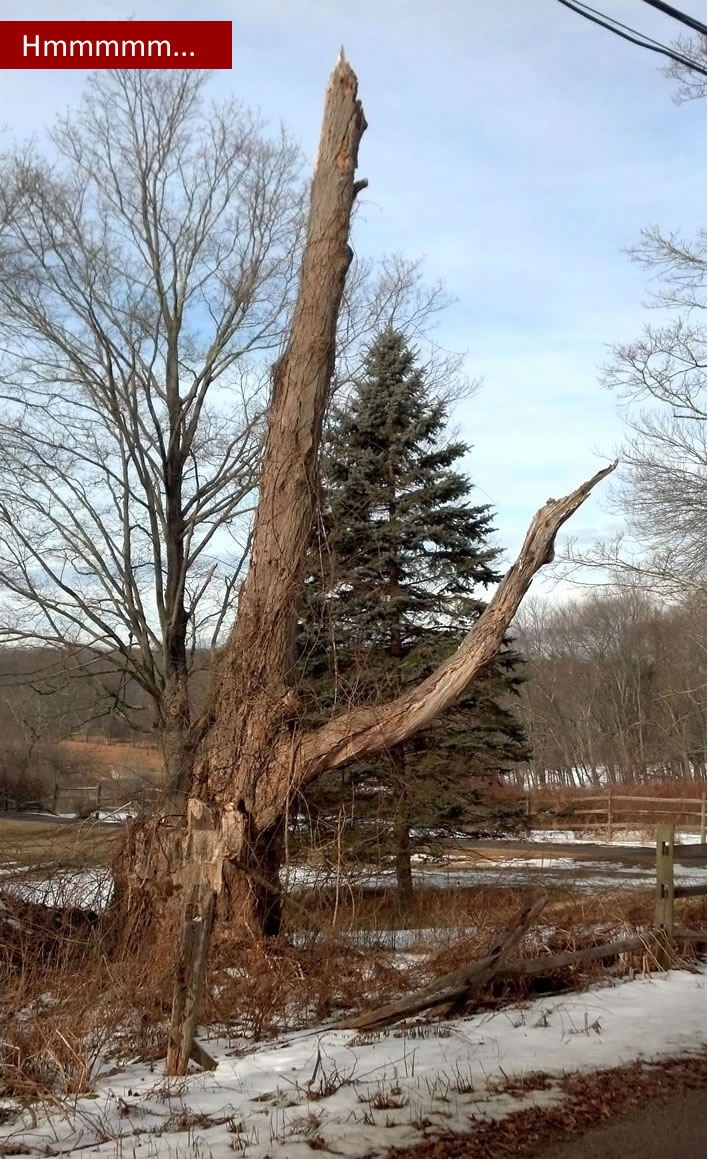
<path fill-rule="evenodd" d="M 231 21 L 0 21 L 0 67 L 231 68 Z"/>

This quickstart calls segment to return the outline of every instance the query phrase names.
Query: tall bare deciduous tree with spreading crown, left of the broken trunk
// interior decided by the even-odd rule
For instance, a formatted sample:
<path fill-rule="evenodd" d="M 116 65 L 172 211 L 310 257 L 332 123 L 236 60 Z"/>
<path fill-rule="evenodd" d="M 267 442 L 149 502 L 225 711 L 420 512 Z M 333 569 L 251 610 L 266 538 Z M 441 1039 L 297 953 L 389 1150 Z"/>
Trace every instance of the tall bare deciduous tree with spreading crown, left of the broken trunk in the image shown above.
<path fill-rule="evenodd" d="M 207 79 L 95 74 L 55 162 L 8 158 L 0 191 L 0 641 L 44 646 L 48 679 L 89 673 L 95 712 L 135 723 L 147 697 L 175 790 L 205 726 L 195 650 L 250 550 L 303 237 L 298 151 L 236 102 L 207 109 Z M 416 262 L 360 262 L 333 389 L 382 319 L 427 333 L 446 302 Z"/>

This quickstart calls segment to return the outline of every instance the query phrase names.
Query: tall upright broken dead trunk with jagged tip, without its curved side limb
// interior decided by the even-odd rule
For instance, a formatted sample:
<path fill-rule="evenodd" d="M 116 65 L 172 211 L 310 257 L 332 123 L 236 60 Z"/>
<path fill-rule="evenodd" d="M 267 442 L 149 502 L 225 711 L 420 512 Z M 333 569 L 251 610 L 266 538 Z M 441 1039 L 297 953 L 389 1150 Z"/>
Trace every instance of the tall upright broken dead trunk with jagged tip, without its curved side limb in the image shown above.
<path fill-rule="evenodd" d="M 290 336 L 273 368 L 251 563 L 224 651 L 212 722 L 195 762 L 185 846 L 187 862 L 195 860 L 200 847 L 198 864 L 186 862 L 182 873 L 187 893 L 168 1074 L 187 1071 L 209 931 L 217 899 L 222 909 L 224 880 L 226 893 L 238 899 L 241 927 L 247 926 L 241 904 L 251 905 L 254 926 L 267 929 L 280 921 L 276 846 L 297 749 L 297 701 L 290 688 L 297 601 L 316 503 L 322 423 L 334 372 L 337 319 L 353 256 L 348 244 L 352 208 L 366 184 L 354 181 L 366 129 L 356 88 L 356 77 L 340 53 L 325 99 Z M 209 835 L 204 829 L 195 842 L 192 831 L 194 824 L 201 825 L 193 807 L 196 800 L 203 803 L 210 821 Z M 274 851 L 273 865 L 259 856 L 266 847 Z M 268 883 L 266 890 L 262 880 Z M 190 930 L 195 916 L 204 938 Z"/>

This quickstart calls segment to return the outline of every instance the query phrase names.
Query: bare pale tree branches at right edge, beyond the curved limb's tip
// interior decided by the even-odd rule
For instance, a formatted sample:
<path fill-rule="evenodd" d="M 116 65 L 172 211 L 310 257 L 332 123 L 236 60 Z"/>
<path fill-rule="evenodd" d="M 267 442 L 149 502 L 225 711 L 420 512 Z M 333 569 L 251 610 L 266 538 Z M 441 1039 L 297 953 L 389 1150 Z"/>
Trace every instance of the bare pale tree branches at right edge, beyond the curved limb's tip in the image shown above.
<path fill-rule="evenodd" d="M 706 577 L 706 234 L 644 230 L 630 255 L 669 318 L 616 346 L 604 372 L 627 423 L 609 501 L 627 532 L 585 553 L 571 543 L 568 560 L 676 595 Z"/>

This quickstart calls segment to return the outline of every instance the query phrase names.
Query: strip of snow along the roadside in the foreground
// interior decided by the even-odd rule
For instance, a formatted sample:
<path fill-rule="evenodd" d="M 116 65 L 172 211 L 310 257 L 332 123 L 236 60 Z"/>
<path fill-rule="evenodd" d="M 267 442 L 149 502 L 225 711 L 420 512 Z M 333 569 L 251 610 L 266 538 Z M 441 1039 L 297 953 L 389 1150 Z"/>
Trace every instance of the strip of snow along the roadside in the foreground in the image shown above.
<path fill-rule="evenodd" d="M 325 1025 L 258 1046 L 201 1039 L 214 1072 L 166 1080 L 162 1064 L 106 1070 L 91 1096 L 29 1111 L 5 1101 L 0 1150 L 64 1157 L 382 1157 L 562 1100 L 557 1083 L 505 1093 L 508 1078 L 699 1053 L 706 976 L 671 971 L 406 1031 Z M 109 1071 L 111 1072 L 109 1074 Z M 1 1117 L 0 1117 L 1 1118 Z M 312 1141 L 312 1146 L 310 1146 Z M 44 1151 L 48 1150 L 48 1151 Z"/>

